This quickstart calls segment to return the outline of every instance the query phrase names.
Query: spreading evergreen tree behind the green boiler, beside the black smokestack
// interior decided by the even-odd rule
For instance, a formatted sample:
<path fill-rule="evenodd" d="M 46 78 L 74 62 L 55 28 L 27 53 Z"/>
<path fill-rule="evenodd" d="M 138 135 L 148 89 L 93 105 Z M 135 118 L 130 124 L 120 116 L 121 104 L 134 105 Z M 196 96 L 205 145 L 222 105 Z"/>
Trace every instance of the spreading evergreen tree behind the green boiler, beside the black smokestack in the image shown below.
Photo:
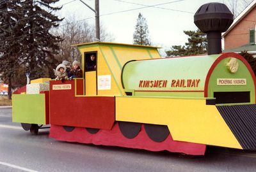
<path fill-rule="evenodd" d="M 197 31 L 184 31 L 184 33 L 189 36 L 188 43 L 185 43 L 185 46 L 172 46 L 171 50 L 166 51 L 169 57 L 205 54 L 207 52 L 206 34 L 204 32 L 198 29 Z"/>

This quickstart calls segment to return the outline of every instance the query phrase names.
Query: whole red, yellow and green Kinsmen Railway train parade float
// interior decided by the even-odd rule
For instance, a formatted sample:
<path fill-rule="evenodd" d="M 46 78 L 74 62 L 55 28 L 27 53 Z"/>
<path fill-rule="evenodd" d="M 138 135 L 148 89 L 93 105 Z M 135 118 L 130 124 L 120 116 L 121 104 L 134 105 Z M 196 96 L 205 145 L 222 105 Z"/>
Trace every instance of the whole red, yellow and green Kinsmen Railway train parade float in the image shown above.
<path fill-rule="evenodd" d="M 83 78 L 39 78 L 13 94 L 13 122 L 49 137 L 151 151 L 204 155 L 207 145 L 255 150 L 256 78 L 239 54 L 221 54 L 227 6 L 195 14 L 208 55 L 161 58 L 158 47 L 118 43 L 76 45 Z M 90 55 L 97 68 L 86 69 Z"/>

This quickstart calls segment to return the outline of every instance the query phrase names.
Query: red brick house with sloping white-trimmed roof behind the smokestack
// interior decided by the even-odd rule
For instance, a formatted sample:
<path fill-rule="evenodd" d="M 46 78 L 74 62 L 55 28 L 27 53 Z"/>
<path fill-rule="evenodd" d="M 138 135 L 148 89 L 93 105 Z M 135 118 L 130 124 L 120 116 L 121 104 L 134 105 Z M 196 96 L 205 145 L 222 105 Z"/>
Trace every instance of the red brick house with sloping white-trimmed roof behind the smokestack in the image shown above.
<path fill-rule="evenodd" d="M 256 0 L 249 4 L 223 33 L 224 52 L 241 52 L 247 50 L 256 54 L 255 45 Z"/>

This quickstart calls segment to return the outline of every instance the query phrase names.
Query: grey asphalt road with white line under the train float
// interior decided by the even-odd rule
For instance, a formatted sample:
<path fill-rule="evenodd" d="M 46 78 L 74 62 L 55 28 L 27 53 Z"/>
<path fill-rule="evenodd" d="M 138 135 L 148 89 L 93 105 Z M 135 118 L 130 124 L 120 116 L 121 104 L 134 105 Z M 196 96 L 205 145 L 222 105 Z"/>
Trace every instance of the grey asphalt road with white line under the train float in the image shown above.
<path fill-rule="evenodd" d="M 256 171 L 256 152 L 209 147 L 205 156 L 66 143 L 37 136 L 12 123 L 0 108 L 0 172 L 9 171 Z"/>

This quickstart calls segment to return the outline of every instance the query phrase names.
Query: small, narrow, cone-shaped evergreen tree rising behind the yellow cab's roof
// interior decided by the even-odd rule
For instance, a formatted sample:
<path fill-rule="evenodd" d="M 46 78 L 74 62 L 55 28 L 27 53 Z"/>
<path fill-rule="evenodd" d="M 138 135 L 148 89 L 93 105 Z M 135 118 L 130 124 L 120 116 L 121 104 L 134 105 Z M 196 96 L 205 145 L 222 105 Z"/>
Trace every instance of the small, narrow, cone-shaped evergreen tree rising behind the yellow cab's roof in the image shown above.
<path fill-rule="evenodd" d="M 133 34 L 133 44 L 134 45 L 151 45 L 147 20 L 141 13 L 139 13 L 137 18 L 137 24 L 135 26 L 135 31 Z"/>

